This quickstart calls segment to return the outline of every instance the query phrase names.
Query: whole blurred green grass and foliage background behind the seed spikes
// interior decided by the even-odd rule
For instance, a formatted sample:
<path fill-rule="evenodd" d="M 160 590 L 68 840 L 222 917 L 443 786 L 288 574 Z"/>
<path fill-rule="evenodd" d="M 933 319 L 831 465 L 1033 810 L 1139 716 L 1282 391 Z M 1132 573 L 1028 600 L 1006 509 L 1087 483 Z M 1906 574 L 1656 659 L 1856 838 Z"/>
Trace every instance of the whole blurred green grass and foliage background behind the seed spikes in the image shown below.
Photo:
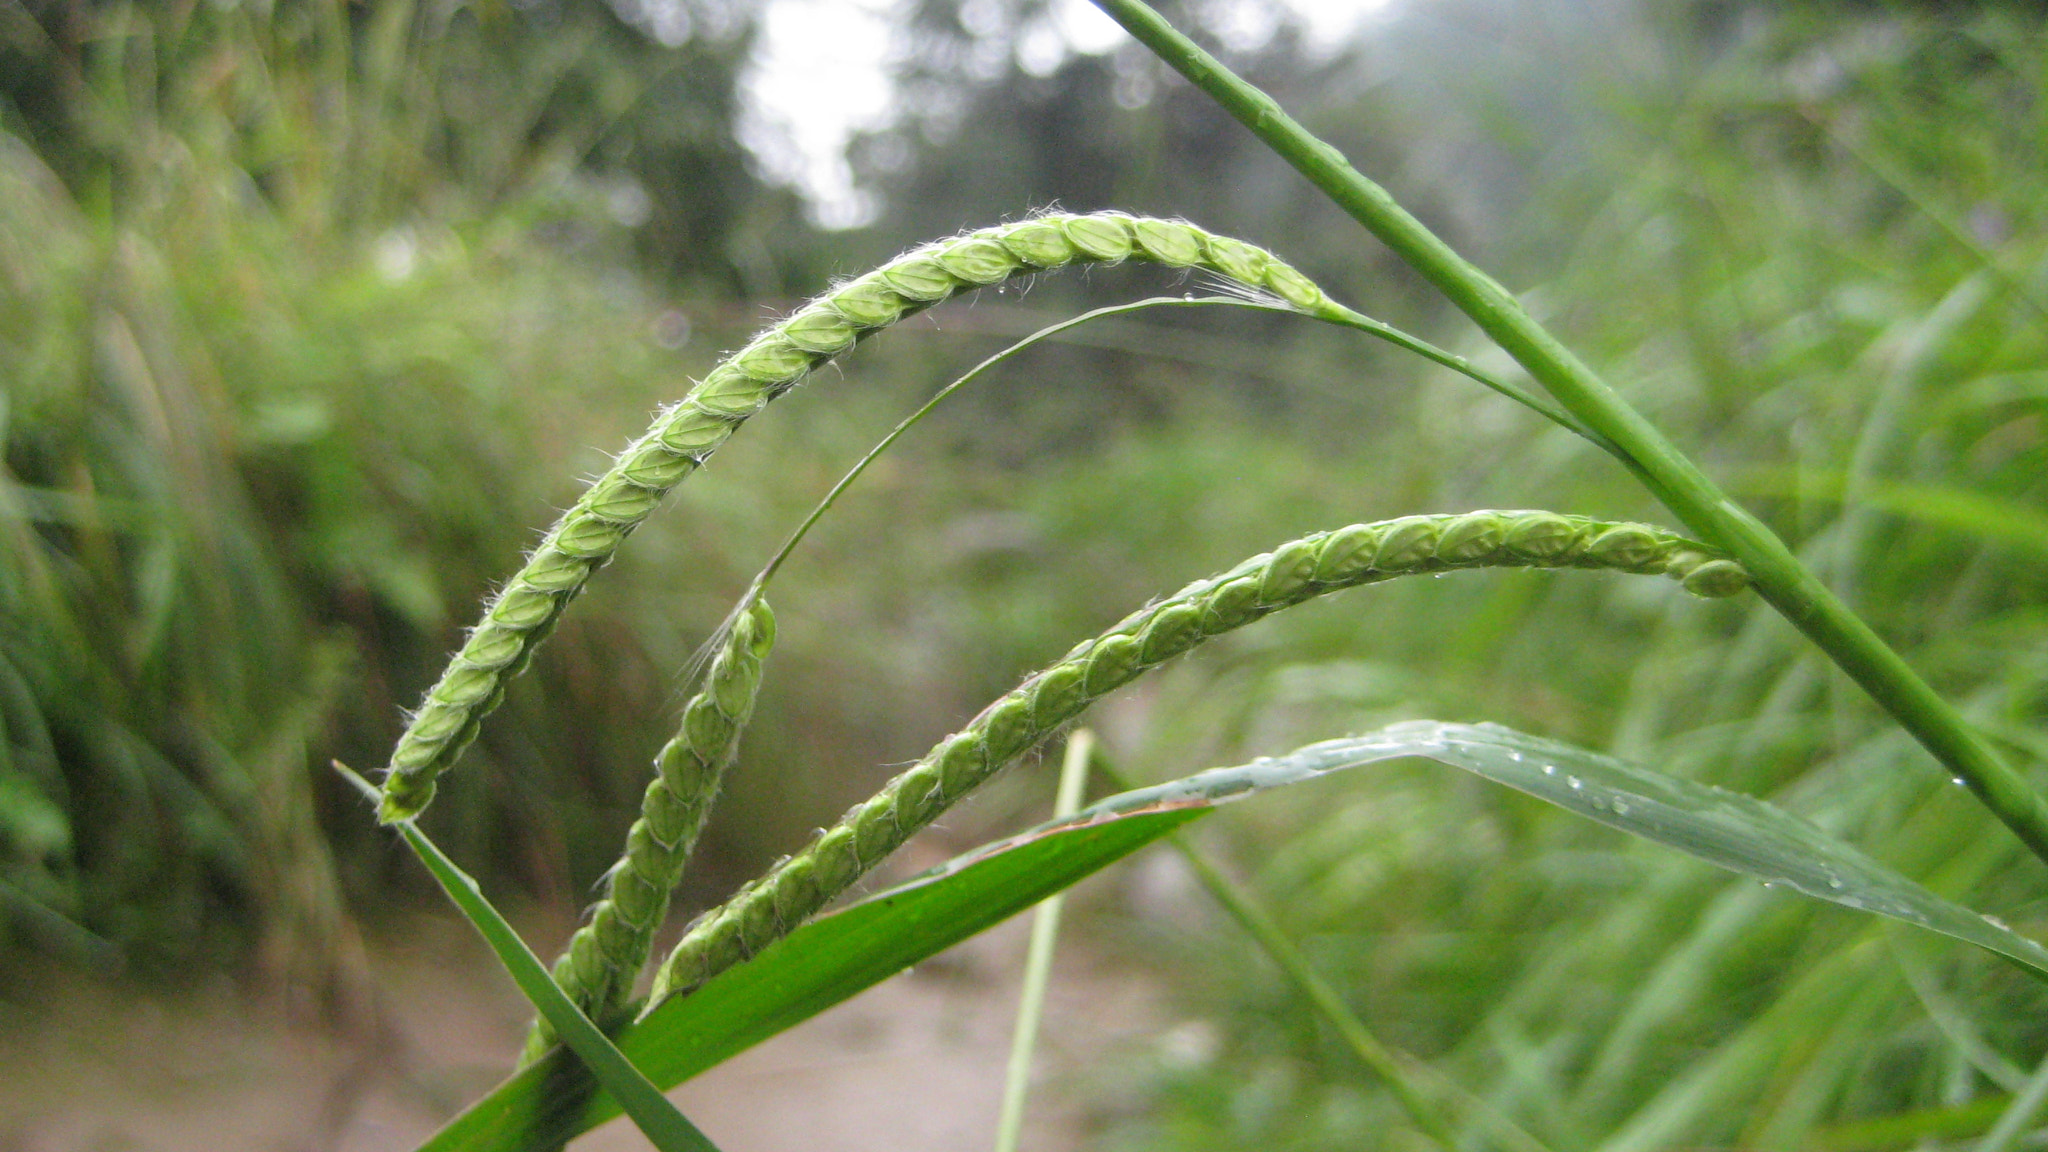
<path fill-rule="evenodd" d="M 1524 293 L 2040 777 L 2030 6 L 1409 0 L 1341 51 L 1225 8 L 1174 14 Z M 852 148 L 881 211 L 821 232 L 735 135 L 758 10 L 688 10 L 664 45 L 594 0 L 0 8 L 6 972 L 254 974 L 346 1011 L 358 927 L 432 894 L 322 765 L 383 763 L 492 582 L 688 373 L 907 244 L 1055 201 L 1186 215 L 1507 369 L 1135 49 L 1026 70 L 1032 0 L 901 10 L 905 113 Z M 1159 287 L 985 293 L 780 402 L 594 580 L 436 836 L 494 890 L 586 900 L 680 668 L 838 471 L 1001 338 Z M 778 582 L 782 642 L 678 904 L 1147 596 L 1470 506 L 1657 519 L 1573 439 L 1339 334 L 1204 310 L 1032 353 Z M 2038 865 L 1757 605 L 1583 574 L 1389 586 L 1231 637 L 1098 726 L 1163 777 L 1413 715 L 1769 795 L 2048 924 Z M 969 820 L 1028 818 L 1040 777 Z M 2048 1039 L 2048 998 L 1995 961 L 1427 767 L 1206 832 L 1364 1019 L 1554 1148 L 1982 1132 Z M 1145 1105 L 1106 1107 L 1104 1148 L 1399 1144 L 1245 941 L 1120 916 L 1102 947 L 1212 1029 L 1110 1076 Z M 1933 1119 L 1855 1127 L 1909 1113 Z"/>

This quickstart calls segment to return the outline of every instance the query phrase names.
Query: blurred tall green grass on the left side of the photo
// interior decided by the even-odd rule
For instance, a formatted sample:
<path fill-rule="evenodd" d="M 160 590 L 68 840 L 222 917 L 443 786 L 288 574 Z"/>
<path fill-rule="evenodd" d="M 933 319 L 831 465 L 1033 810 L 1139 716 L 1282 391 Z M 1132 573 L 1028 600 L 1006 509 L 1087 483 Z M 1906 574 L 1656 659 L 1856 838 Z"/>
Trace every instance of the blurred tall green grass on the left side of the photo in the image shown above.
<path fill-rule="evenodd" d="M 47 16 L 4 33 L 8 927 L 141 972 L 260 937 L 336 994 L 354 945 L 309 752 L 381 752 L 526 543 L 506 508 L 557 500 L 676 371 L 610 271 L 631 172 L 578 162 L 647 127 L 678 61 L 586 4 Z M 743 29 L 692 43 L 692 84 L 729 82 Z M 723 156 L 696 187 L 750 189 Z M 647 754 L 575 740 L 600 781 Z"/>

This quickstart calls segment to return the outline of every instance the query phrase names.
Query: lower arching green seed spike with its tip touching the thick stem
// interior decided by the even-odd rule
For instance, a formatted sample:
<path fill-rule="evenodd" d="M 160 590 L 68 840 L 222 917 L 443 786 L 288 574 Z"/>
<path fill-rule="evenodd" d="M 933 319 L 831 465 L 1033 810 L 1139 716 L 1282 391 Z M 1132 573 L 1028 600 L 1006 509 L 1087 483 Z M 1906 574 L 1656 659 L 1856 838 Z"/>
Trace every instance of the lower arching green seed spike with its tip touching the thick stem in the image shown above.
<path fill-rule="evenodd" d="M 1339 588 L 1454 568 L 1663 574 L 1700 596 L 1749 586 L 1735 562 L 1665 529 L 1556 512 L 1403 517 L 1284 543 L 1124 617 L 991 703 L 805 851 L 700 916 L 655 974 L 649 1009 L 780 939 L 973 787 L 1147 668 Z"/>

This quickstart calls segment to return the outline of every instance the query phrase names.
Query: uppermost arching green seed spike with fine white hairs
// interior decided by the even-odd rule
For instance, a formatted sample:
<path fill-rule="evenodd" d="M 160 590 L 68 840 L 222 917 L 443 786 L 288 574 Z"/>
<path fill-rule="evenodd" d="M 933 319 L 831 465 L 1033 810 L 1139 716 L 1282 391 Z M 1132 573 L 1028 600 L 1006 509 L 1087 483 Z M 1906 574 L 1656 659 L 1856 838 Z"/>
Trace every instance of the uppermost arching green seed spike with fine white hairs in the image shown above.
<path fill-rule="evenodd" d="M 840 285 L 711 369 L 555 523 L 483 611 L 399 736 L 385 769 L 379 818 L 385 824 L 408 820 L 434 799 L 436 777 L 475 740 L 506 683 L 524 668 L 590 574 L 748 416 L 862 336 L 956 293 L 1063 264 L 1116 260 L 1200 269 L 1274 293 L 1309 316 L 1358 322 L 1270 252 L 1190 223 L 1122 213 L 1040 215 L 954 236 Z"/>

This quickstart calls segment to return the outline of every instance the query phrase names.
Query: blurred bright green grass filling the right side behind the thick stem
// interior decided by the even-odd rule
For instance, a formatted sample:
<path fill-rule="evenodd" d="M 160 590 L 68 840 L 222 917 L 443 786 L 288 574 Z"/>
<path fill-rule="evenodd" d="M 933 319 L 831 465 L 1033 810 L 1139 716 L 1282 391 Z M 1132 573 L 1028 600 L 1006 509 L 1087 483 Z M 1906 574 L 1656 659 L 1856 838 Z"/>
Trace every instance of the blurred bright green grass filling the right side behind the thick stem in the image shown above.
<path fill-rule="evenodd" d="M 1706 37 L 1624 16 L 1602 39 L 1526 53 L 1530 29 L 1567 18 L 1559 8 L 1391 29 L 1411 98 L 1452 141 L 1421 174 L 1524 174 L 1507 187 L 1536 195 L 1475 256 L 1503 264 L 2038 773 L 2048 586 L 2021 537 L 2048 506 L 2048 441 L 2019 381 L 2044 357 L 2030 301 L 2044 256 L 2040 29 L 1997 6 L 1784 8 Z M 1595 47 L 1616 43 L 1626 51 Z M 1495 131 L 1503 90 L 1563 105 L 1563 119 Z M 1962 232 L 1985 254 L 1939 223 L 1978 207 L 1980 232 Z M 1530 445 L 1485 404 L 1452 387 L 1419 402 L 1413 449 L 1440 484 L 1556 484 L 1544 502 L 1628 506 L 1597 457 L 1561 437 Z M 1417 711 L 1499 717 L 1774 795 L 2040 935 L 2038 867 L 1784 623 L 1765 609 L 1667 615 L 1616 592 L 1391 588 L 1382 611 L 1403 635 L 1335 617 L 1309 635 L 1298 621 L 1288 640 L 1305 648 L 1186 668 L 1126 756 L 1229 760 Z M 1233 693 L 1247 703 L 1219 715 Z M 2034 1066 L 2048 1035 L 2040 992 L 2003 965 L 1931 959 L 1425 775 L 1247 814 L 1227 842 L 1376 1033 L 1552 1146 L 1960 1140 L 1995 1113 L 1942 1127 L 1944 1109 L 2019 1091 L 2005 1068 Z M 1292 1023 L 1292 994 L 1237 963 L 1241 947 L 1163 947 L 1167 970 L 1190 974 L 1192 1011 L 1221 1009 L 1223 1039 L 1163 1070 L 1159 1109 L 1116 1125 L 1114 1146 L 1350 1144 L 1397 1115 Z M 1890 1144 L 1872 1136 L 1878 1117 L 1898 1117 Z"/>

